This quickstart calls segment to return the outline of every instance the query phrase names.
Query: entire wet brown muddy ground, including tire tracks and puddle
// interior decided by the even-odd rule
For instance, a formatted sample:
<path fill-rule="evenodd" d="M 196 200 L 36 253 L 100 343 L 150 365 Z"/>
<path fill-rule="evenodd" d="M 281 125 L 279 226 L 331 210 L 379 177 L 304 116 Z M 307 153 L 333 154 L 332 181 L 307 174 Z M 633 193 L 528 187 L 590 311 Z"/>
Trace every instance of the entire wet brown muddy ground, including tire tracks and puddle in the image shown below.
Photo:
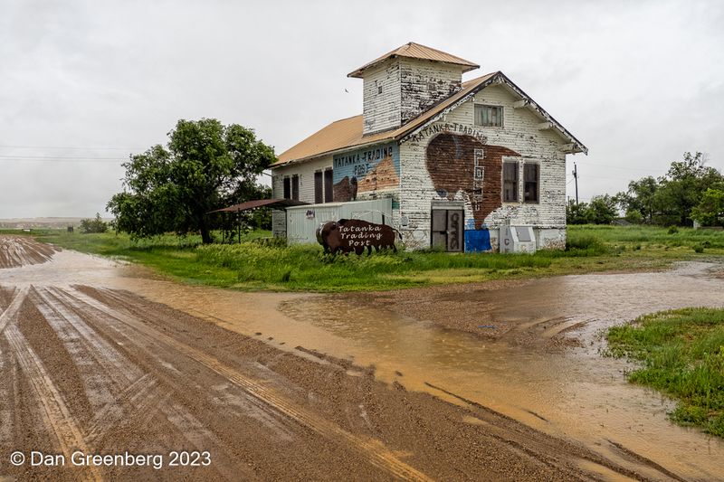
<path fill-rule="evenodd" d="M 721 306 L 716 269 L 329 297 L 56 252 L 0 269 L 0 478 L 721 479 L 724 444 L 597 353 L 639 312 Z M 33 449 L 166 465 L 7 463 Z"/>

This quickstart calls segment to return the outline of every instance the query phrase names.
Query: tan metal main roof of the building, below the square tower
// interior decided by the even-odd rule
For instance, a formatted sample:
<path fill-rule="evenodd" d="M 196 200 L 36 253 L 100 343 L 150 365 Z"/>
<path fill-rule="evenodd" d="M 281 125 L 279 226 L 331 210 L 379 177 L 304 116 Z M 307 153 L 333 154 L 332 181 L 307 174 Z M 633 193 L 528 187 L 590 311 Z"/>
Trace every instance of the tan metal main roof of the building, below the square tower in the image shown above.
<path fill-rule="evenodd" d="M 271 165 L 271 167 L 280 167 L 281 165 L 291 164 L 299 161 L 306 161 L 308 159 L 329 155 L 337 152 L 344 151 L 353 147 L 360 146 L 371 146 L 379 144 L 381 142 L 388 142 L 392 140 L 405 140 L 404 138 L 410 135 L 414 135 L 419 130 L 423 129 L 425 125 L 434 122 L 437 118 L 441 118 L 448 111 L 455 109 L 462 102 L 468 100 L 469 97 L 477 92 L 478 90 L 484 89 L 491 83 L 504 84 L 512 92 L 515 92 L 521 99 L 526 100 L 526 105 L 530 109 L 538 112 L 541 118 L 548 120 L 554 128 L 564 137 L 570 139 L 573 149 L 570 152 L 582 152 L 588 153 L 588 148 L 583 145 L 576 137 L 567 131 L 555 118 L 550 116 L 543 108 L 530 99 L 529 95 L 520 90 L 508 77 L 500 71 L 491 72 L 477 79 L 468 80 L 462 82 L 462 90 L 452 94 L 452 96 L 441 102 L 435 104 L 432 108 L 425 110 L 422 114 L 416 118 L 411 119 L 405 125 L 393 130 L 386 130 L 384 132 L 378 132 L 364 136 L 362 134 L 362 116 L 355 116 L 353 118 L 343 118 L 336 122 L 332 122 L 326 128 L 315 132 L 310 137 L 307 137 L 296 146 L 292 146 L 286 151 L 279 155 L 279 160 Z"/>

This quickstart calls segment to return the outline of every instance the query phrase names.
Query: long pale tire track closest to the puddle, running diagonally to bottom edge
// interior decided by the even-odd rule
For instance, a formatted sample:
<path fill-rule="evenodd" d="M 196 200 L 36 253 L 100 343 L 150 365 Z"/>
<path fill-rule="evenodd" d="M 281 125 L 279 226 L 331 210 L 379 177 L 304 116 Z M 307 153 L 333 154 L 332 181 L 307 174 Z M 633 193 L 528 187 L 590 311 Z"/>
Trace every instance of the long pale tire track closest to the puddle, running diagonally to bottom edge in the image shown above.
<path fill-rule="evenodd" d="M 100 293 L 110 298 L 116 297 L 116 294 L 108 289 L 100 290 Z M 187 357 L 195 360 L 195 362 L 205 365 L 205 367 L 212 370 L 214 373 L 221 375 L 224 379 L 242 388 L 244 392 L 247 392 L 259 402 L 262 402 L 275 411 L 280 412 L 292 421 L 296 421 L 300 425 L 313 430 L 322 437 L 334 440 L 338 444 L 342 444 L 344 447 L 356 451 L 363 458 L 366 458 L 370 464 L 387 472 L 391 476 L 407 480 L 432 480 L 421 471 L 405 464 L 405 462 L 397 458 L 395 453 L 386 449 L 381 441 L 363 438 L 342 429 L 336 423 L 328 421 L 316 413 L 291 402 L 275 390 L 265 386 L 261 380 L 254 379 L 240 373 L 234 370 L 233 367 L 215 359 L 213 356 L 205 354 L 198 349 L 177 341 L 171 336 L 161 333 L 157 329 L 148 326 L 146 323 L 138 319 L 138 317 L 134 317 L 130 313 L 122 313 L 119 310 L 100 302 L 100 300 L 91 298 L 90 296 L 77 290 L 67 292 L 66 296 L 67 298 L 65 300 L 70 303 L 74 303 L 76 306 L 81 303 L 87 307 L 92 307 L 103 313 L 106 317 L 113 318 L 120 323 L 131 326 L 140 334 L 148 336 L 150 339 L 157 342 L 161 342 L 164 345 L 173 348 L 176 352 L 185 354 Z M 117 298 L 117 300 L 121 303 L 125 303 L 122 298 Z"/>

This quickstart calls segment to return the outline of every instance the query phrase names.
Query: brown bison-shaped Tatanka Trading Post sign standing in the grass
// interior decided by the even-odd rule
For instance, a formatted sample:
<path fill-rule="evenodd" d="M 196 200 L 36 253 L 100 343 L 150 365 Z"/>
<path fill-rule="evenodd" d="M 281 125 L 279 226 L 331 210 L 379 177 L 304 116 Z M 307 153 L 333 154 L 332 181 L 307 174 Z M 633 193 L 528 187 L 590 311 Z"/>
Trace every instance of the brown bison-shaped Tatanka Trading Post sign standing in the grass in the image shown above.
<path fill-rule="evenodd" d="M 339 221 L 325 222 L 317 229 L 317 241 L 324 248 L 324 252 L 336 254 L 352 252 L 362 254 L 365 249 L 372 253 L 376 250 L 391 249 L 395 247 L 395 237 L 400 233 L 392 226 L 376 224 L 360 219 L 340 219 Z M 400 236 L 400 239 L 402 237 Z"/>

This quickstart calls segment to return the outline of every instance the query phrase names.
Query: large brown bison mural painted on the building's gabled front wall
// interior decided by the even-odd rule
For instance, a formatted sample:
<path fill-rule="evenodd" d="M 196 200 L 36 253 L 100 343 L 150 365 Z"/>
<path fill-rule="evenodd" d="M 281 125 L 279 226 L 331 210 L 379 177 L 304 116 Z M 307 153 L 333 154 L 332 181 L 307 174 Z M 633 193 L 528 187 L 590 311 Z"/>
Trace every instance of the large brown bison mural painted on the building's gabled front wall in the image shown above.
<path fill-rule="evenodd" d="M 508 147 L 485 144 L 484 138 L 449 131 L 433 137 L 425 154 L 438 195 L 452 200 L 462 191 L 471 203 L 472 229 L 480 229 L 485 217 L 502 205 L 503 156 L 519 156 Z"/>

